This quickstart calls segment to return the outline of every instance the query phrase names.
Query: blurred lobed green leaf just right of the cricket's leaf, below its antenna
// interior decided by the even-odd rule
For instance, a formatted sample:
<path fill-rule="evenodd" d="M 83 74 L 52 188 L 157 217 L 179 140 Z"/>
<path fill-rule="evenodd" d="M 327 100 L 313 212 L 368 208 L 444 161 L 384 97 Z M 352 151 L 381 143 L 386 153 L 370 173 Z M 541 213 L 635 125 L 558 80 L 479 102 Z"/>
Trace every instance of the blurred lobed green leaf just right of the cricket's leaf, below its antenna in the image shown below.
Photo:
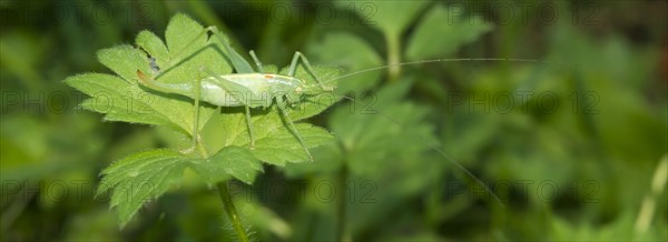
<path fill-rule="evenodd" d="M 434 143 L 432 127 L 423 121 L 428 110 L 403 100 L 410 87 L 410 80 L 402 80 L 360 100 L 357 105 L 372 103 L 365 110 L 341 107 L 332 114 L 332 132 L 345 149 L 342 155 L 353 173 L 382 172 L 377 168 L 389 160 L 414 157 Z"/>

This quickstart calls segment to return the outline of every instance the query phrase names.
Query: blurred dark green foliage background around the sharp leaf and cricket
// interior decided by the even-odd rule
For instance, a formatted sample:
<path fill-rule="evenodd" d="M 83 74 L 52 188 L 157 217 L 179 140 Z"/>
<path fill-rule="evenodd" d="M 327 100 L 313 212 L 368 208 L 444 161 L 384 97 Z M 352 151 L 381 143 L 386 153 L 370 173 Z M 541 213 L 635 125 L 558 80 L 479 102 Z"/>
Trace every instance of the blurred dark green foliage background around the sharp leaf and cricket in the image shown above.
<path fill-rule="evenodd" d="M 337 91 L 357 102 L 307 120 L 335 143 L 313 150 L 313 163 L 264 165 L 253 185 L 232 183 L 258 240 L 666 241 L 666 4 L 2 0 L 1 238 L 233 236 L 216 193 L 190 169 L 120 230 L 111 199 L 94 199 L 100 171 L 138 151 L 186 148 L 188 139 L 178 129 L 102 122 L 62 82 L 117 71 L 96 61 L 98 50 L 135 44 L 146 29 L 163 33 L 183 12 L 277 67 L 294 51 L 344 74 L 429 58 L 567 63 L 421 63 L 338 80 Z M 550 9 L 559 14 L 546 22 Z M 205 135 L 225 129 L 203 127 Z"/>

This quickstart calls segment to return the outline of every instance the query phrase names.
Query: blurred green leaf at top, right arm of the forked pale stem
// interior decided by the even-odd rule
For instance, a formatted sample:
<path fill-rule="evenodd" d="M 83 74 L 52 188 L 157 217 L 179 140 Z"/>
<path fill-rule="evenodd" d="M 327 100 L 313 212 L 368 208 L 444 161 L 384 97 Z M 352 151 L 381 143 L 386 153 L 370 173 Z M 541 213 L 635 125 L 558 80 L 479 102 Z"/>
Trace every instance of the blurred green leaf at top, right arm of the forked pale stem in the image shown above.
<path fill-rule="evenodd" d="M 459 12 L 443 6 L 429 11 L 411 36 L 405 52 L 409 60 L 446 57 L 492 29 L 479 17 L 455 18 L 449 10 Z"/>

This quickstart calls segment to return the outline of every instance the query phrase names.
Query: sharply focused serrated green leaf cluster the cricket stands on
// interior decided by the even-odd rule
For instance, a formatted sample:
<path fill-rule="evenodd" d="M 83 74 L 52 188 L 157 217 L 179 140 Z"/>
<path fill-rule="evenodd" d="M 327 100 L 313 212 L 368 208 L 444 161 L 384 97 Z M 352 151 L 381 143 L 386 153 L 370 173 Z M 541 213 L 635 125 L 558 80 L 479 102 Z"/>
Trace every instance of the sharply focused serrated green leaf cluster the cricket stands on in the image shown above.
<path fill-rule="evenodd" d="M 141 31 L 136 46 L 121 44 L 98 51 L 98 60 L 116 74 L 84 73 L 65 80 L 66 83 L 90 95 L 81 105 L 105 113 L 107 121 L 165 127 L 176 132 L 173 149 L 141 151 L 115 162 L 102 171 L 98 194 L 110 191 L 111 206 L 118 209 L 121 223 L 149 199 L 156 199 L 178 185 L 185 169 L 197 172 L 208 183 L 232 178 L 252 184 L 262 162 L 284 165 L 286 162 L 307 160 L 295 133 L 275 105 L 254 110 L 252 122 L 256 129 L 255 149 L 249 148 L 249 135 L 243 108 L 216 108 L 204 103 L 198 112 L 193 100 L 176 94 L 147 90 L 137 83 L 137 71 L 150 73 L 167 83 L 194 82 L 203 74 L 203 67 L 215 73 L 232 73 L 229 58 L 216 38 L 203 34 L 205 29 L 185 14 L 176 14 L 165 32 L 165 42 L 149 31 Z M 275 68 L 268 68 L 275 70 Z M 335 69 L 315 68 L 316 75 L 333 77 Z M 301 67 L 296 77 L 308 83 L 313 78 Z M 293 121 L 313 117 L 336 100 L 310 97 L 301 105 L 289 109 Z M 197 130 L 195 114 L 199 113 Z M 297 123 L 296 131 L 307 148 L 331 142 L 326 130 L 307 123 Z M 196 147 L 188 145 L 193 137 Z"/>

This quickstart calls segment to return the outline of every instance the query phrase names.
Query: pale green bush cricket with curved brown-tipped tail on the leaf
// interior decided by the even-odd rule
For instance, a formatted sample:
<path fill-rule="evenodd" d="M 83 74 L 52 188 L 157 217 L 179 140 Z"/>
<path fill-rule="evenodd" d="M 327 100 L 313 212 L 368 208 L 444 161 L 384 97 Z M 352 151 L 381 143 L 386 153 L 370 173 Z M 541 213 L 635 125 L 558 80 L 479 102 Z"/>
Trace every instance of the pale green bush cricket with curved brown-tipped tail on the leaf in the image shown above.
<path fill-rule="evenodd" d="M 276 107 L 278 107 L 279 112 L 287 121 L 291 132 L 295 134 L 302 148 L 304 149 L 304 152 L 308 155 L 308 159 L 313 161 L 313 157 L 306 148 L 303 138 L 295 129 L 292 119 L 287 115 L 284 104 L 292 104 L 296 102 L 303 94 L 331 91 L 333 88 L 322 84 L 306 84 L 305 81 L 294 77 L 298 60 L 302 59 L 306 71 L 310 72 L 316 82 L 320 83 L 320 80 L 313 72 L 311 63 L 301 52 L 295 52 L 292 63 L 288 68 L 287 75 L 267 74 L 264 73 L 262 62 L 257 59 L 254 51 L 250 51 L 249 53 L 255 61 L 257 71 L 253 70 L 250 63 L 248 63 L 229 46 L 229 43 L 220 36 L 222 33 L 216 29 L 216 27 L 208 27 L 204 29 L 203 32 L 190 42 L 195 42 L 198 38 L 209 31 L 225 47 L 236 73 L 217 74 L 205 67 L 202 67 L 199 72 L 205 72 L 208 75 L 207 78 L 202 78 L 202 74 L 198 73 L 198 78 L 196 79 L 195 83 L 189 82 L 183 84 L 169 84 L 153 80 L 141 71 L 137 71 L 139 83 L 151 90 L 189 97 L 195 100 L 195 110 L 198 110 L 200 100 L 217 107 L 244 107 L 246 110 L 246 122 L 250 135 L 250 149 L 254 149 L 255 147 L 253 122 L 250 121 L 250 108 L 268 108 L 273 102 L 276 102 Z M 195 148 L 197 142 L 196 133 L 198 117 L 199 115 L 196 113 L 193 131 L 193 148 Z"/>

